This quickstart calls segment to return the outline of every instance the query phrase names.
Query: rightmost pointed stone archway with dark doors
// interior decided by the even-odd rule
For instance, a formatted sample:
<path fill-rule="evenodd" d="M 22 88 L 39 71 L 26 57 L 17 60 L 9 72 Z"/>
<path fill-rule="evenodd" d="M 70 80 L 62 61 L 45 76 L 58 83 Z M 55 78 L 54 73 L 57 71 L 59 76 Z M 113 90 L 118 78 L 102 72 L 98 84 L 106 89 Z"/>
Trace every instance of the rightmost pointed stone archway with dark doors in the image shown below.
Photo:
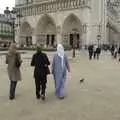
<path fill-rule="evenodd" d="M 77 48 L 82 46 L 82 41 L 81 41 L 82 25 L 79 18 L 76 15 L 70 14 L 65 19 L 62 26 L 62 31 L 63 31 L 62 35 L 63 35 L 64 44 L 73 47 L 73 43 L 75 42 L 75 46 Z"/>

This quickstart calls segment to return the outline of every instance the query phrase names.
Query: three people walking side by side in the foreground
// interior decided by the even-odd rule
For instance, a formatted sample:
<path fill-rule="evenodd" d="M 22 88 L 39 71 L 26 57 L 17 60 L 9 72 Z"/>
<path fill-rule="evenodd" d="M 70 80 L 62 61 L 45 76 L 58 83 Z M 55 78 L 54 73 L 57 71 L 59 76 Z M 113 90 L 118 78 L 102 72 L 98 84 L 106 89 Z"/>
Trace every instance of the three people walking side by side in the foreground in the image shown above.
<path fill-rule="evenodd" d="M 6 64 L 8 64 L 8 76 L 10 79 L 10 93 L 9 99 L 15 98 L 15 91 L 17 82 L 21 80 L 21 66 L 22 60 L 21 55 L 16 50 L 16 44 L 11 44 L 9 51 L 6 55 Z M 49 69 L 50 61 L 45 53 L 42 52 L 41 47 L 37 47 L 36 53 L 33 55 L 31 60 L 31 66 L 34 69 L 34 78 L 36 86 L 36 98 L 45 100 L 47 75 L 52 73 L 55 83 L 55 95 L 64 99 L 65 97 L 65 83 L 67 77 L 67 70 L 70 72 L 69 62 L 67 55 L 64 52 L 62 44 L 57 45 L 57 53 L 53 57 L 52 69 Z"/>

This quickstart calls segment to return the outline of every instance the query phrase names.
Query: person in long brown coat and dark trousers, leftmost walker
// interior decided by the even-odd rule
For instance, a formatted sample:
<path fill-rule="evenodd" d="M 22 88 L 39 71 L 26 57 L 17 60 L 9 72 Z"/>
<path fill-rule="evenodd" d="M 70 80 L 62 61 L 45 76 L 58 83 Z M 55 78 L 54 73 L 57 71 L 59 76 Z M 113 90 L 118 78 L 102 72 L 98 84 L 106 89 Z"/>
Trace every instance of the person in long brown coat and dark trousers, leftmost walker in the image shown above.
<path fill-rule="evenodd" d="M 12 43 L 6 55 L 6 64 L 8 64 L 7 70 L 10 79 L 10 100 L 13 100 L 15 98 L 16 85 L 17 82 L 21 80 L 21 63 L 21 56 L 20 53 L 16 51 L 16 44 Z"/>

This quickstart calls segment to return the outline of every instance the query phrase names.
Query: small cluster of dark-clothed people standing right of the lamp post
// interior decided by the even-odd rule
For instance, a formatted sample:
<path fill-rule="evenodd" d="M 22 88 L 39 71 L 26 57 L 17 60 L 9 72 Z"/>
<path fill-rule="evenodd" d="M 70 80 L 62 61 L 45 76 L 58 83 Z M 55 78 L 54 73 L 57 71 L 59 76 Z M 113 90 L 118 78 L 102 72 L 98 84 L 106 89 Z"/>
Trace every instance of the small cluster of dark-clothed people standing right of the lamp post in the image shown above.
<path fill-rule="evenodd" d="M 93 58 L 98 60 L 101 53 L 101 48 L 98 45 L 89 45 L 88 52 L 90 60 Z"/>

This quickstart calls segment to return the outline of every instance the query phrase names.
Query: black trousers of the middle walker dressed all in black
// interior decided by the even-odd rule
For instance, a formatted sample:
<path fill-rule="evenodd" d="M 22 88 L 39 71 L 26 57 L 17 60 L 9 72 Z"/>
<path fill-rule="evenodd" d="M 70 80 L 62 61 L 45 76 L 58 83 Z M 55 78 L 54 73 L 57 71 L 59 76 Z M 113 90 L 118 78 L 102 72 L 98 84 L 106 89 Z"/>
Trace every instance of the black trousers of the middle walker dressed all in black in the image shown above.
<path fill-rule="evenodd" d="M 36 96 L 39 96 L 40 94 L 45 95 L 46 83 L 47 83 L 46 75 L 35 78 Z"/>

